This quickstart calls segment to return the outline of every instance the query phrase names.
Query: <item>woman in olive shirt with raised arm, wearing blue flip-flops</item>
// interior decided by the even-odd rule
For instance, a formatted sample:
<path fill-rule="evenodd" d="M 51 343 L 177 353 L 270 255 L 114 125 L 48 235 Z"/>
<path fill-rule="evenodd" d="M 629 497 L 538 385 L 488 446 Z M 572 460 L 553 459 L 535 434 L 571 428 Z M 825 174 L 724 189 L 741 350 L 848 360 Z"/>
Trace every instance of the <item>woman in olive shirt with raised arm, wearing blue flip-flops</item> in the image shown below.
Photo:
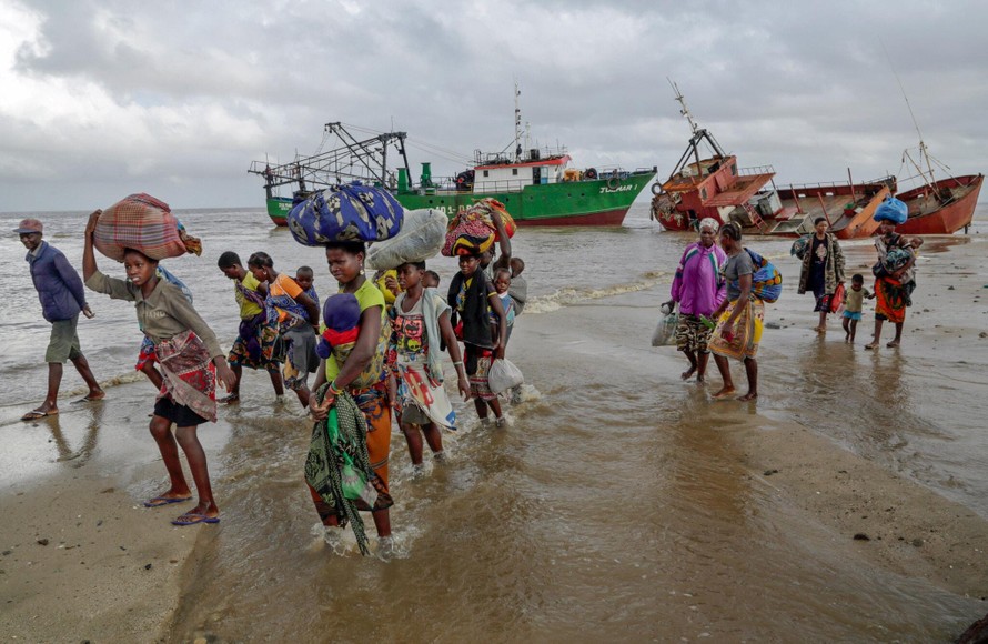
<path fill-rule="evenodd" d="M 216 420 L 216 375 L 228 390 L 233 389 L 236 378 L 226 365 L 225 353 L 220 349 L 216 335 L 199 316 L 192 303 L 178 286 L 158 276 L 157 260 L 127 249 L 123 266 L 128 280 L 109 278 L 99 271 L 93 253 L 93 231 L 101 212 L 92 213 L 85 227 L 82 252 L 85 285 L 114 300 L 134 302 L 138 322 L 154 343 L 154 354 L 163 375 L 150 429 L 168 469 L 171 486 L 147 501 L 144 506 L 160 507 L 192 499 L 179 461 L 178 445 L 181 445 L 199 492 L 199 503 L 172 523 L 218 523 L 220 510 L 213 500 L 205 452 L 196 436 L 196 427 Z M 174 435 L 171 432 L 172 423 L 178 426 Z"/>

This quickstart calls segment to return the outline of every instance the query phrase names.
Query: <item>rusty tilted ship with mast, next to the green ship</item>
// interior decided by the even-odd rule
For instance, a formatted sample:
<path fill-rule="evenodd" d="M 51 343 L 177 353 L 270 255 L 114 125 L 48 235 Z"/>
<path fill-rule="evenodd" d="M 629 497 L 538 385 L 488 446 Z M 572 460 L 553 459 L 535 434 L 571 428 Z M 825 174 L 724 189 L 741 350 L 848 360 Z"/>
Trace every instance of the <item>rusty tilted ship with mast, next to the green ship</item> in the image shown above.
<path fill-rule="evenodd" d="M 772 165 L 739 168 L 714 135 L 697 125 L 678 88 L 676 100 L 689 121 L 693 137 L 669 178 L 652 187 L 652 217 L 665 229 L 695 230 L 704 218 L 738 222 L 745 234 L 798 237 L 813 231 L 823 217 L 840 239 L 871 235 L 878 224 L 871 217 L 896 190 L 894 177 L 867 183 L 848 181 L 788 185 L 775 184 Z M 700 148 L 705 148 L 700 152 Z"/>

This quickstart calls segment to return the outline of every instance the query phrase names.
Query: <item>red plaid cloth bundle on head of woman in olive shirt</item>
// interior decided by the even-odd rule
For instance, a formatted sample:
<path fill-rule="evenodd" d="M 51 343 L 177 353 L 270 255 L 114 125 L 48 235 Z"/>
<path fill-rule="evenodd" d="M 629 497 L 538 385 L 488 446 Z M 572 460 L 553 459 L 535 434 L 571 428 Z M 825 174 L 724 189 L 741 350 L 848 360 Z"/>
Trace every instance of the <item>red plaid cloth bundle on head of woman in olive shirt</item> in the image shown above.
<path fill-rule="evenodd" d="M 125 249 L 140 251 L 152 260 L 202 252 L 199 240 L 190 237 L 168 204 L 150 194 L 131 194 L 103 211 L 93 232 L 97 250 L 118 262 Z"/>

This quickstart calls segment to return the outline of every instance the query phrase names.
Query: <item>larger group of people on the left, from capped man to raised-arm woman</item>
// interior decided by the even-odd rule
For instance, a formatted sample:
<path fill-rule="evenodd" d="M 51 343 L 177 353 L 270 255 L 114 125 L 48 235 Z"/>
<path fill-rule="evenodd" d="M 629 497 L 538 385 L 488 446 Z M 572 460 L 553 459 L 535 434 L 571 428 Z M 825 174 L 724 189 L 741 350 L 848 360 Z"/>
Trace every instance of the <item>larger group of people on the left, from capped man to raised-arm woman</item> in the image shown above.
<path fill-rule="evenodd" d="M 85 227 L 82 280 L 62 253 L 42 241 L 40 221 L 24 219 L 14 229 L 28 249 L 31 275 L 46 319 L 52 324 L 46 354 L 49 395 L 23 420 L 58 413 L 58 388 L 67 361 L 73 362 L 89 385 L 85 401 L 105 395 L 82 355 L 75 333 L 79 313 L 91 316 L 83 283 L 91 291 L 133 302 L 138 326 L 144 334 L 137 369 L 159 391 L 150 431 L 169 474 L 168 489 L 145 501 L 144 506 L 192 500 L 179 447 L 199 494 L 195 506 L 173 524 L 220 521 L 196 431 L 200 424 L 216 420 L 218 383 L 228 390 L 220 402 L 240 400 L 244 368 L 266 371 L 276 402 L 283 402 L 283 392 L 290 389 L 315 421 L 305 477 L 326 542 L 339 544 L 343 526 L 360 524 L 360 531 L 355 527 L 354 532 L 361 552 L 366 554 L 356 511 L 370 511 L 379 536 L 377 553 L 385 559 L 394 547 L 389 513 L 393 504 L 389 489 L 393 415 L 405 435 L 416 473 L 422 466 L 423 437 L 434 457 L 442 460 L 441 430 L 456 429 L 456 414 L 443 386 L 442 351 L 452 359 L 458 393 L 464 401 L 474 400 L 482 424 L 488 422 L 488 410 L 494 412 L 496 426 L 508 424 L 497 394 L 491 391 L 487 373 L 493 360 L 504 356 L 514 318 L 527 299 L 527 286 L 521 276 L 524 263 L 511 256 L 500 218 L 495 217 L 495 224 L 501 232 L 501 255 L 495 260 L 491 249 L 461 256 L 460 272 L 452 280 L 447 299 L 440 295 L 438 275 L 426 271 L 425 262 L 404 263 L 389 271 L 381 283 L 367 279 L 366 246 L 360 241 L 325 244 L 326 264 L 337 292 L 326 298 L 322 308 L 313 288 L 312 269 L 302 266 L 290 278 L 276 271 L 264 252 L 250 255 L 245 265 L 236 253 L 222 253 L 218 266 L 234 282 L 233 294 L 240 308 L 238 336 L 228 354 L 193 308 L 191 291 L 157 260 L 127 249 L 125 280 L 99 270 L 93 233 L 100 214 L 92 213 Z M 457 319 L 458 329 L 454 331 Z M 308 376 L 312 372 L 315 381 L 310 390 Z M 327 423 L 331 415 L 332 423 Z M 316 441 L 327 433 L 333 435 Z M 327 467 L 334 463 L 342 466 Z M 363 482 L 364 493 L 353 499 L 334 494 L 333 486 L 336 492 L 341 485 L 352 490 L 353 481 L 346 475 L 354 473 Z"/>

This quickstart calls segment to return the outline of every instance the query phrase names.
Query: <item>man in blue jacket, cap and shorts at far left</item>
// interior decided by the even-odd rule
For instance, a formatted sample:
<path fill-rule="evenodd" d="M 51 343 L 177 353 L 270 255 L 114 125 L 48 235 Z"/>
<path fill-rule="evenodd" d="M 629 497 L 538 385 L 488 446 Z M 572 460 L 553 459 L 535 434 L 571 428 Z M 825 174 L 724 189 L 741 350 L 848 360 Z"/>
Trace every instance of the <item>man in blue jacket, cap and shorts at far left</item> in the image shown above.
<path fill-rule="evenodd" d="M 89 394 L 83 400 L 95 401 L 105 394 L 82 355 L 79 335 L 75 333 L 80 311 L 87 318 L 92 318 L 79 273 L 60 250 L 41 241 L 42 225 L 37 219 L 22 220 L 13 232 L 20 235 L 21 243 L 28 249 L 28 256 L 24 259 L 31 265 L 31 279 L 38 290 L 38 299 L 41 300 L 41 312 L 51 322 L 51 341 L 44 353 L 44 361 L 48 362 L 48 395 L 41 406 L 21 416 L 23 421 L 31 421 L 59 413 L 59 385 L 62 383 L 62 365 L 68 360 L 72 361 L 89 386 Z"/>

